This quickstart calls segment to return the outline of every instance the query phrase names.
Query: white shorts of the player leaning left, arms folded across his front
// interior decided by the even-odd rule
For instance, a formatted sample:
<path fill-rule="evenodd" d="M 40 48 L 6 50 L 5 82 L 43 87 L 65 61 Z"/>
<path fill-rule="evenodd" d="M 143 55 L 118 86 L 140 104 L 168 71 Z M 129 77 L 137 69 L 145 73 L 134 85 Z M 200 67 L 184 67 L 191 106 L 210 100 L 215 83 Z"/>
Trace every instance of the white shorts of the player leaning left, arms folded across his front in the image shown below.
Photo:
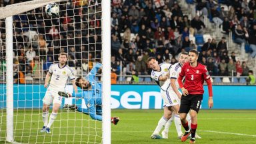
<path fill-rule="evenodd" d="M 171 107 L 174 105 L 180 105 L 181 101 L 173 90 L 163 91 L 161 90 L 161 96 L 163 99 L 163 107 Z"/>

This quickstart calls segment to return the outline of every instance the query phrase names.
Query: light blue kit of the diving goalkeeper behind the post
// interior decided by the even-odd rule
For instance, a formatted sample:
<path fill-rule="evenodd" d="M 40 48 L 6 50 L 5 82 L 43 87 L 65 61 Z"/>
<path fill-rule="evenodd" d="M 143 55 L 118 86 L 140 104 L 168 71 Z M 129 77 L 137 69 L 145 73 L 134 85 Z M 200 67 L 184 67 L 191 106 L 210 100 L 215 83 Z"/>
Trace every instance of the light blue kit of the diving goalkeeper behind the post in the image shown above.
<path fill-rule="evenodd" d="M 101 66 L 101 63 L 96 63 L 93 69 L 91 69 L 90 73 L 88 73 L 88 75 L 85 77 L 85 79 L 87 79 L 91 85 L 90 90 L 72 94 L 73 97 L 81 97 L 85 99 L 85 104 L 88 107 L 88 109 L 83 109 L 80 105 L 77 111 L 90 115 L 92 119 L 98 121 L 102 121 L 101 83 L 95 80 L 95 75 Z"/>

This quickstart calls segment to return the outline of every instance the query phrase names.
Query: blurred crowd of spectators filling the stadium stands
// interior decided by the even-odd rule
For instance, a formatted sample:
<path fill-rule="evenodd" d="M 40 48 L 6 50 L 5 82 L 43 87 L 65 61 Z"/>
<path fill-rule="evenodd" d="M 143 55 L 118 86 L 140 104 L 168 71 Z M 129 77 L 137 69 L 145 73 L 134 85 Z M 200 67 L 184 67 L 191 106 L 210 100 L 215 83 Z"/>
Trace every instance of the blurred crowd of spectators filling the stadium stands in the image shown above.
<path fill-rule="evenodd" d="M 8 5 L 15 1 L 1 1 Z M 51 19 L 43 7 L 29 11 L 27 15 L 15 15 L 13 37 L 14 63 L 17 76 L 33 73 L 40 79 L 40 69 L 47 71 L 57 61 L 60 52 L 69 54 L 68 65 L 78 73 L 87 73 L 95 59 L 101 58 L 101 5 L 91 1 L 70 1 L 60 4 L 59 18 Z M 95 5 L 94 5 L 95 4 Z M 207 16 L 214 23 L 223 25 L 223 32 L 234 31 L 234 41 L 249 43 L 256 55 L 255 0 L 249 3 L 235 0 L 227 3 L 229 11 L 218 9 L 213 0 L 197 0 L 199 16 L 189 19 L 183 15 L 176 0 L 113 0 L 111 1 L 111 67 L 113 73 L 149 75 L 148 57 L 156 57 L 159 63 L 175 63 L 180 52 L 201 47 L 199 62 L 207 65 L 210 75 L 244 75 L 249 68 L 245 61 L 237 61 L 235 53 L 228 55 L 225 37 L 220 41 L 209 39 L 197 45 L 189 35 L 202 35 Z M 74 9 L 75 8 L 75 9 Z M 1 56 L 5 55 L 5 23 L 1 27 Z M 97 61 L 97 60 L 96 60 Z M 5 63 L 2 61 L 2 63 Z M 43 66 L 40 65 L 43 63 Z M 121 67 L 122 65 L 122 67 Z"/>

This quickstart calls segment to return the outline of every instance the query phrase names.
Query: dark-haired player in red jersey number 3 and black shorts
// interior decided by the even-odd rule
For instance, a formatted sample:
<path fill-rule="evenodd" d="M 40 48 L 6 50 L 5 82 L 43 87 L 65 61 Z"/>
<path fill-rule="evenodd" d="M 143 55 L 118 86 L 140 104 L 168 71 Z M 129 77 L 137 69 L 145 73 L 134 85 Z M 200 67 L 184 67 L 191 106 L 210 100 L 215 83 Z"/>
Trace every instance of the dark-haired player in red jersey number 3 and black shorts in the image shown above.
<path fill-rule="evenodd" d="M 191 134 L 190 143 L 195 143 L 195 131 L 197 130 L 197 113 L 199 112 L 201 101 L 203 99 L 203 82 L 206 81 L 209 91 L 209 108 L 213 107 L 213 91 L 209 72 L 205 65 L 197 62 L 198 51 L 192 49 L 189 51 L 189 63 L 185 63 L 179 73 L 178 83 L 181 87 L 181 106 L 179 113 L 181 123 L 186 130 L 181 138 L 181 141 L 186 141 L 187 137 Z M 185 77 L 183 85 L 182 79 Z M 186 120 L 187 113 L 191 115 L 191 131 Z"/>

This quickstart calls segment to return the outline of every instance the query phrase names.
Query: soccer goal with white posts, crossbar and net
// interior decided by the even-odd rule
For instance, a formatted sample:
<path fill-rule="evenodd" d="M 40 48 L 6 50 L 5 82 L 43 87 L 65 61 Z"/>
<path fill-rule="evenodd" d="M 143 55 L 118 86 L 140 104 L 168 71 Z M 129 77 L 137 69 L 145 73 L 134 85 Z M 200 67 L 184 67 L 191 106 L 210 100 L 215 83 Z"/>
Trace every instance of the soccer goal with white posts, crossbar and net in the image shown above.
<path fill-rule="evenodd" d="M 49 3 L 55 3 L 59 13 L 45 11 Z M 111 143 L 110 3 L 33 0 L 0 7 L 0 143 Z M 102 115 L 102 121 L 92 119 L 85 99 L 61 97 L 51 133 L 45 133 L 45 77 L 50 65 L 59 63 L 59 53 L 67 53 L 66 65 L 75 77 L 95 73 L 91 85 L 102 84 L 91 92 L 102 93 L 102 104 L 94 105 L 93 114 Z M 101 71 L 91 72 L 97 63 Z M 71 80 L 65 91 L 74 93 Z M 52 106 L 48 119 L 51 111 Z"/>

